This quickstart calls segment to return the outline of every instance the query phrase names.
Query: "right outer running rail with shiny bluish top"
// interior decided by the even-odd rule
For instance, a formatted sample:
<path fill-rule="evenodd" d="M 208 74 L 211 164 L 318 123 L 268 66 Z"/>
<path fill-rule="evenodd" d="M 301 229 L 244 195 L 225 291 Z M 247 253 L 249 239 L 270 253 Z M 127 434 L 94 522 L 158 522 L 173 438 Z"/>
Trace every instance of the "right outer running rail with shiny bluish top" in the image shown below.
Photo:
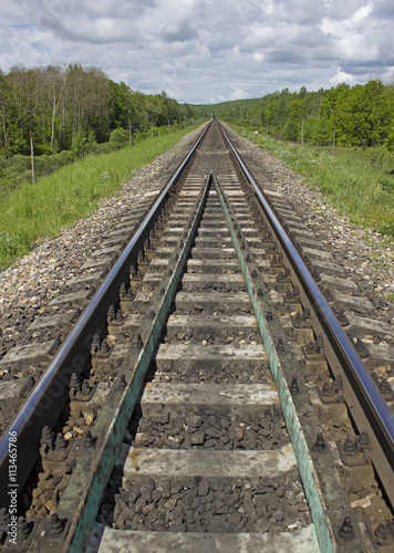
<path fill-rule="evenodd" d="M 221 125 L 220 128 L 245 177 L 251 185 L 263 212 L 272 225 L 273 231 L 283 248 L 297 278 L 301 282 L 307 296 L 317 313 L 320 324 L 322 325 L 326 337 L 357 396 L 364 414 L 375 432 L 380 447 L 382 448 L 391 468 L 394 470 L 394 418 L 387 405 L 367 374 L 363 363 L 356 354 L 349 337 L 344 333 L 336 316 L 332 312 L 325 298 L 314 282 L 313 276 L 309 272 L 267 199 L 259 190 L 255 179 L 248 171 L 240 155 L 232 146 Z"/>

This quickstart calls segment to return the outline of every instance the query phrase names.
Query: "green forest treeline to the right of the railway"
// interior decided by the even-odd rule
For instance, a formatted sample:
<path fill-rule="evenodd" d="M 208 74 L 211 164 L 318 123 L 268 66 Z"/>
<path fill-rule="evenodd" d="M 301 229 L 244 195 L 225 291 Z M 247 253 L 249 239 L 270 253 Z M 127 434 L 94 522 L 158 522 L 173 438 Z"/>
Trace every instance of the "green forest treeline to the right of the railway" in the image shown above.
<path fill-rule="evenodd" d="M 330 90 L 198 106 L 199 115 L 266 127 L 277 138 L 315 146 L 385 146 L 394 150 L 394 85 L 373 80 L 365 85 L 339 84 Z"/>

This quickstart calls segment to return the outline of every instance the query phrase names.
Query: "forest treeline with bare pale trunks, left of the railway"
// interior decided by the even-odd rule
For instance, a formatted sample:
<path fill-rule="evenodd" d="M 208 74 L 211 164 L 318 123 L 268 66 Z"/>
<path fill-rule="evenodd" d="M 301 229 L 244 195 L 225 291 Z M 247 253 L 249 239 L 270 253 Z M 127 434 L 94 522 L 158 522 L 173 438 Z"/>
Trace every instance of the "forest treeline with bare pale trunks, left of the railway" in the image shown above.
<path fill-rule="evenodd" d="M 100 150 L 121 146 L 138 133 L 178 125 L 197 116 L 191 105 L 178 104 L 165 92 L 146 95 L 111 81 L 100 69 L 12 67 L 0 70 L 0 157 L 62 150 Z"/>

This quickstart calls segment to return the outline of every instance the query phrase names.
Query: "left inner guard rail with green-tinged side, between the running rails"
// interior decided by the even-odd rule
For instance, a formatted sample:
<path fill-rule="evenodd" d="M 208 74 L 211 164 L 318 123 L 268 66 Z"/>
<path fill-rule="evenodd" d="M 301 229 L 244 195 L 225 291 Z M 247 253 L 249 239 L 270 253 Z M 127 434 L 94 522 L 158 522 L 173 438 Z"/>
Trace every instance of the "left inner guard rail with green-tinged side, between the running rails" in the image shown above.
<path fill-rule="evenodd" d="M 96 447 L 86 451 L 85 456 L 81 456 L 80 463 L 83 468 L 79 471 L 76 467 L 58 505 L 59 513 L 71 522 L 66 541 L 62 547 L 63 553 L 85 551 L 90 529 L 92 529 L 98 512 L 100 500 L 111 477 L 124 434 L 144 386 L 152 356 L 186 267 L 207 201 L 210 181 L 211 176 L 201 182 L 199 196 L 184 228 L 187 238 L 184 233 L 184 238 L 174 248 L 168 261 L 168 270 L 163 274 L 152 298 L 151 309 L 153 309 L 155 317 L 152 319 L 151 312 L 146 313 L 139 326 L 144 337 L 143 348 L 135 352 L 134 356 L 129 353 L 120 368 L 121 373 L 126 375 L 125 380 L 127 380 L 124 392 L 118 397 L 120 390 L 116 387 L 112 388 L 113 394 L 110 393 L 107 396 L 105 408 L 95 422 Z M 103 431 L 100 431 L 100 428 Z"/>

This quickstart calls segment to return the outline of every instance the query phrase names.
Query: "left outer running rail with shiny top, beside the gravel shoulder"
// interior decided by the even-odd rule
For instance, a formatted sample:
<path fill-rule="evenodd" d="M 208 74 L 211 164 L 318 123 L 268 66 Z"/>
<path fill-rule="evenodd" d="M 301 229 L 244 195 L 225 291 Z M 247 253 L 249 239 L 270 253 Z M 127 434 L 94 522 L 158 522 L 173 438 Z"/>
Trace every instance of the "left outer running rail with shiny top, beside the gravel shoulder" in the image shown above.
<path fill-rule="evenodd" d="M 179 165 L 165 189 L 162 191 L 144 221 L 131 239 L 125 250 L 98 288 L 86 310 L 82 313 L 74 328 L 70 332 L 50 366 L 32 389 L 14 420 L 0 441 L 0 508 L 9 502 L 9 442 L 17 436 L 18 476 L 13 488 L 20 488 L 31 472 L 39 452 L 40 439 L 44 426 L 52 426 L 59 418 L 69 395 L 70 378 L 73 373 L 82 373 L 90 356 L 92 337 L 106 321 L 110 305 L 115 304 L 120 286 L 128 278 L 131 264 L 156 221 L 165 199 L 177 182 L 193 154 L 205 137 L 210 123 L 206 126 L 194 147 Z M 22 449 L 28 455 L 22 455 Z M 37 455 L 32 453 L 35 451 Z"/>

